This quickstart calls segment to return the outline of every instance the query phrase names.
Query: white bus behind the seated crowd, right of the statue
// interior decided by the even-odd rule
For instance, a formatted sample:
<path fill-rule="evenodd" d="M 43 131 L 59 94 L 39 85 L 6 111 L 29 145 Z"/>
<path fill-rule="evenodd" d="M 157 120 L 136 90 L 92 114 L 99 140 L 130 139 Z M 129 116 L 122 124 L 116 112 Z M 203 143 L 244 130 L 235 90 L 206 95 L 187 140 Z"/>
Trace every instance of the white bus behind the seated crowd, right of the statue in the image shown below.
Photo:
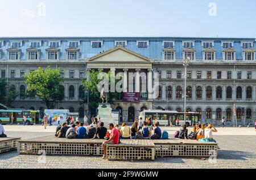
<path fill-rule="evenodd" d="M 186 121 L 184 121 L 184 115 Z M 200 114 L 194 112 L 182 113 L 170 110 L 144 110 L 141 112 L 139 118 L 142 117 L 142 121 L 145 121 L 147 118 L 154 120 L 158 119 L 160 126 L 170 126 L 170 122 L 173 125 L 176 125 L 176 120 L 180 120 L 180 125 L 191 126 L 193 123 L 199 123 Z"/>

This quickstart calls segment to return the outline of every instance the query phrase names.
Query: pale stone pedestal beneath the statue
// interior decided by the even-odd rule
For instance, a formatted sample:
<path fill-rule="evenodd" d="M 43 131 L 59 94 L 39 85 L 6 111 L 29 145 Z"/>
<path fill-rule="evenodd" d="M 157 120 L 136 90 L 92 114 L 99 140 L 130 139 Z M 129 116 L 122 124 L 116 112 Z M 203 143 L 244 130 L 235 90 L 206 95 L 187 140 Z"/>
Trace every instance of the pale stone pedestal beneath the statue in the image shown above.
<path fill-rule="evenodd" d="M 115 124 L 110 104 L 100 104 L 98 106 L 98 118 L 101 118 L 101 122 L 104 122 L 105 127 L 107 127 L 109 123 L 113 123 L 113 125 Z"/>

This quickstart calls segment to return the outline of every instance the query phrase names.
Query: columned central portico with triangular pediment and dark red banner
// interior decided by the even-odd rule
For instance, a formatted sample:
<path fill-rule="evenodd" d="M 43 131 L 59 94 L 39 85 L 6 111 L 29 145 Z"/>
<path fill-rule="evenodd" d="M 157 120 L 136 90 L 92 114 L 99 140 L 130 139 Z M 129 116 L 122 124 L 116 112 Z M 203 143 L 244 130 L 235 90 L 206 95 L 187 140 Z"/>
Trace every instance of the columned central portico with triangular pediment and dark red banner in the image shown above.
<path fill-rule="evenodd" d="M 114 75 L 121 72 L 122 99 L 114 100 L 112 108 L 121 110 L 123 122 L 133 122 L 142 109 L 152 109 L 151 59 L 117 46 L 89 58 L 86 63 L 89 71 L 112 71 Z"/>

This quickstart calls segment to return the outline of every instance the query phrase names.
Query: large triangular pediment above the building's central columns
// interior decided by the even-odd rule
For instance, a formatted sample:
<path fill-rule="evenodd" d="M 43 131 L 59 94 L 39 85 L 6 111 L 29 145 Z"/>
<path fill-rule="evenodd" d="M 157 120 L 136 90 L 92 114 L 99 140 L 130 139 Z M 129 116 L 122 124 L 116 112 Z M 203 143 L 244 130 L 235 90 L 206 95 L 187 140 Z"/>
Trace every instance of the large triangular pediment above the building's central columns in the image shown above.
<path fill-rule="evenodd" d="M 95 55 L 87 60 L 88 63 L 93 62 L 109 62 L 109 63 L 122 63 L 122 62 L 144 62 L 152 63 L 151 59 L 144 57 L 141 54 L 135 53 L 129 49 L 117 46 L 114 49 L 108 50 L 101 54 Z"/>

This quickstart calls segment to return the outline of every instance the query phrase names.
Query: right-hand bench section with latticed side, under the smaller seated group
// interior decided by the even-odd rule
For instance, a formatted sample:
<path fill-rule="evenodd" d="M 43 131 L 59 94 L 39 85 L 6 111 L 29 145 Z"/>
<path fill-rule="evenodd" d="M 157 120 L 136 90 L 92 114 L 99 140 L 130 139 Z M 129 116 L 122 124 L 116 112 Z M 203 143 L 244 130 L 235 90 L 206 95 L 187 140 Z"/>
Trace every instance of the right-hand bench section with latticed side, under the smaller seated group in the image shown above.
<path fill-rule="evenodd" d="M 158 157 L 210 157 L 218 154 L 217 143 L 183 139 L 152 140 L 152 142 L 155 144 L 155 155 Z"/>

